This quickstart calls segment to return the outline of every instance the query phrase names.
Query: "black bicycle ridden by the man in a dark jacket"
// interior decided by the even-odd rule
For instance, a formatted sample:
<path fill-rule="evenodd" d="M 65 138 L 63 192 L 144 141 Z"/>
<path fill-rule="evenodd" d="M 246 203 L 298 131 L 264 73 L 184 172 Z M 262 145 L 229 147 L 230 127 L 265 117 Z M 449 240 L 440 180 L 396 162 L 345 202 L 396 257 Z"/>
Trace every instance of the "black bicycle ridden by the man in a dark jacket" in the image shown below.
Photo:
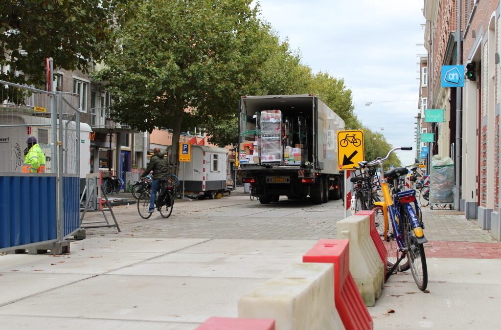
<path fill-rule="evenodd" d="M 160 189 L 155 197 L 155 208 L 160 212 L 163 218 L 168 218 L 172 213 L 174 206 L 174 197 L 172 196 L 173 186 L 169 179 L 160 180 Z M 148 219 L 153 213 L 148 212 L 150 207 L 151 190 L 144 191 L 137 200 L 137 211 L 143 219 Z"/>

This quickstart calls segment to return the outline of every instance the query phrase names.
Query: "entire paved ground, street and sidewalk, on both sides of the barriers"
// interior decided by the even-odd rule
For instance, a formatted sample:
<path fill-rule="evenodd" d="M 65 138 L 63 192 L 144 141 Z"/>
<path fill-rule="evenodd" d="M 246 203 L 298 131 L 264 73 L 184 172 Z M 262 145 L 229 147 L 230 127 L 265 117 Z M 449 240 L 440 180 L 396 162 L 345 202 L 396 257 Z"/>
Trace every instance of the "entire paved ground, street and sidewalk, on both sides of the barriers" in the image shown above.
<path fill-rule="evenodd" d="M 69 255 L 0 256 L 0 328 L 192 330 L 236 316 L 241 295 L 336 237 L 343 215 L 340 201 L 261 205 L 246 195 L 176 203 L 168 219 L 114 210 L 123 232 L 89 230 Z M 497 328 L 500 243 L 461 215 L 423 213 L 429 293 L 410 272 L 391 276 L 369 308 L 374 328 Z"/>

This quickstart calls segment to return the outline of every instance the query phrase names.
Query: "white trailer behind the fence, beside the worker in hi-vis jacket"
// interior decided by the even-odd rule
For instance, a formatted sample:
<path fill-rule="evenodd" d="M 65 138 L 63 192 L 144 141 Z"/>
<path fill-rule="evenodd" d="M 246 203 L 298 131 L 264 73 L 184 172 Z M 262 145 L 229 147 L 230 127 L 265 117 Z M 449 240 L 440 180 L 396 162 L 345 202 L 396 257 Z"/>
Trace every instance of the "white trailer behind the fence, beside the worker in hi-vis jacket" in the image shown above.
<path fill-rule="evenodd" d="M 67 139 L 76 139 L 75 122 L 63 121 L 63 134 Z M 59 129 L 59 125 L 58 125 Z M 86 123 L 80 123 L 80 155 L 75 155 L 76 148 L 68 141 L 68 147 L 63 137 L 63 147 L 67 162 L 65 171 L 67 173 L 76 172 L 76 163 L 72 159 L 80 161 L 80 181 L 85 181 L 86 174 L 90 173 L 90 136 L 91 127 Z M 24 149 L 27 147 L 26 140 L 29 136 L 35 136 L 42 151 L 46 156 L 46 172 L 53 172 L 52 164 L 52 141 L 51 141 L 51 119 L 47 117 L 34 116 L 24 113 L 10 113 L 9 116 L 0 116 L 0 172 L 21 173 L 24 164 Z M 76 173 L 75 173 L 76 174 Z M 82 186 L 82 184 L 81 184 Z"/>

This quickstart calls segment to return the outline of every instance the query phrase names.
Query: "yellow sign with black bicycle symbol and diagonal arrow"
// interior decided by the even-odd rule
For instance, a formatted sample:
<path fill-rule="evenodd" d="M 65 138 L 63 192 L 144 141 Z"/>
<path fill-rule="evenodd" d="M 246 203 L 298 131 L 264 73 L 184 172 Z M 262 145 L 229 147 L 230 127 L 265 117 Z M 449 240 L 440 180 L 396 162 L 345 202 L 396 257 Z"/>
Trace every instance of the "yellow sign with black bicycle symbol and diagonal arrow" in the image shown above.
<path fill-rule="evenodd" d="M 352 170 L 364 159 L 364 131 L 338 131 L 338 168 Z"/>

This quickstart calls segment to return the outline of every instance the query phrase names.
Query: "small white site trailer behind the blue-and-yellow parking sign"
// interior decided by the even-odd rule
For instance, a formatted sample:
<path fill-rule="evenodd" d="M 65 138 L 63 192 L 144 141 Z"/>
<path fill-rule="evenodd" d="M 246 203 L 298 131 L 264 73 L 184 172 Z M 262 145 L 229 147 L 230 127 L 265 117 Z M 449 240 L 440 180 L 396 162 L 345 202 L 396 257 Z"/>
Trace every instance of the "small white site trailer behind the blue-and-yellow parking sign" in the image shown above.
<path fill-rule="evenodd" d="M 169 152 L 170 147 L 167 148 Z M 228 151 L 224 148 L 191 146 L 191 162 L 179 163 L 179 190 L 213 199 L 226 190 Z"/>

